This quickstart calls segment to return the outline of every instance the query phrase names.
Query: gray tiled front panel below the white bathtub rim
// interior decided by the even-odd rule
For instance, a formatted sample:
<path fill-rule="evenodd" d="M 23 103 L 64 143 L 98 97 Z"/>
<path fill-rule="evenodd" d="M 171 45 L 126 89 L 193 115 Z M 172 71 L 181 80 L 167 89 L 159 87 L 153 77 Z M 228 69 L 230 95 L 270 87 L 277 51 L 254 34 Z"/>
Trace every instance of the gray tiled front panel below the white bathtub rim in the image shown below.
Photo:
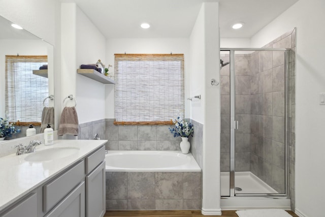
<path fill-rule="evenodd" d="M 201 172 L 106 172 L 106 209 L 201 209 Z"/>

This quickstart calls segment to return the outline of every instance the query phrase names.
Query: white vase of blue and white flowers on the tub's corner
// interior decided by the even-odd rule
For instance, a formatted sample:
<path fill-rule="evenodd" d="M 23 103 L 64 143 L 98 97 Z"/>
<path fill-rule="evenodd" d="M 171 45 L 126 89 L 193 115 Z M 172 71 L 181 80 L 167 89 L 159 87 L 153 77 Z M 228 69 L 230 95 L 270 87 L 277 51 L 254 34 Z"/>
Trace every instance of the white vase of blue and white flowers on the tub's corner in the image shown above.
<path fill-rule="evenodd" d="M 172 134 L 174 134 L 174 137 L 180 136 L 182 138 L 182 141 L 180 143 L 181 151 L 182 153 L 188 153 L 190 147 L 188 137 L 193 134 L 194 127 L 190 122 L 187 122 L 181 116 L 178 116 L 172 121 L 175 127 L 169 128 L 169 130 Z"/>

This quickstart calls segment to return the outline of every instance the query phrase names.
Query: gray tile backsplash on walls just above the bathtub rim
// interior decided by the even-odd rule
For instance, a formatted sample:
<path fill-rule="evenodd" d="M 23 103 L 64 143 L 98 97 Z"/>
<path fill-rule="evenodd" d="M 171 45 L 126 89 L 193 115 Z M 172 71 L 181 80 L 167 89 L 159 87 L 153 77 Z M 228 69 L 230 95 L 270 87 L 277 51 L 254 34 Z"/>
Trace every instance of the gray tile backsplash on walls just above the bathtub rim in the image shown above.
<path fill-rule="evenodd" d="M 190 152 L 202 168 L 203 125 L 190 120 L 194 126 Z M 174 138 L 167 125 L 114 125 L 114 119 L 106 119 L 107 150 L 180 150 L 181 138 Z"/>

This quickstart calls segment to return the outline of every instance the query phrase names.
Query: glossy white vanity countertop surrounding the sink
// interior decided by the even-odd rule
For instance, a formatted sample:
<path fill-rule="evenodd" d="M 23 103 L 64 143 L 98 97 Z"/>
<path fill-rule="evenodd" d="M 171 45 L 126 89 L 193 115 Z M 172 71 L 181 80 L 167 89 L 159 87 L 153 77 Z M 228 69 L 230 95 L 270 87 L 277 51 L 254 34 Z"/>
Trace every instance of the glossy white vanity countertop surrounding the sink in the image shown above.
<path fill-rule="evenodd" d="M 25 161 L 24 158 L 32 153 L 20 156 L 10 154 L 0 158 L 0 211 L 106 142 L 107 140 L 55 140 L 53 145 L 38 145 L 36 152 L 62 146 L 79 148 L 77 153 L 69 157 L 45 162 Z"/>

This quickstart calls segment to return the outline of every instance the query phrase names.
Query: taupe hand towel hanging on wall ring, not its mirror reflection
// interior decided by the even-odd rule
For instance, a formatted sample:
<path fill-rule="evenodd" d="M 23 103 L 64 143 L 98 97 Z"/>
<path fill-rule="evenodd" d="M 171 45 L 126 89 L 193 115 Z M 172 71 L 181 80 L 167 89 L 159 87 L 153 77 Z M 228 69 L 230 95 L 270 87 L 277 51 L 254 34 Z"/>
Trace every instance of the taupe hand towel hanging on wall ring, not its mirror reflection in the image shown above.
<path fill-rule="evenodd" d="M 78 115 L 75 107 L 64 107 L 61 113 L 58 135 L 69 134 L 78 136 Z"/>

